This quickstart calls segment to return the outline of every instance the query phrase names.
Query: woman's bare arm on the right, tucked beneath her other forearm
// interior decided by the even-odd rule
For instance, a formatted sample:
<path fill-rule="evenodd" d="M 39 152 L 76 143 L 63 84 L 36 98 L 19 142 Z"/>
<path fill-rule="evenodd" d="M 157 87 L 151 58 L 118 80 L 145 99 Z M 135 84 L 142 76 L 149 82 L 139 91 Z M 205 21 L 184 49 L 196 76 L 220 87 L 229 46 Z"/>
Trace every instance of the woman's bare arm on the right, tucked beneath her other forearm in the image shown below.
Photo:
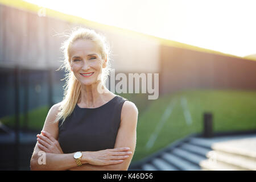
<path fill-rule="evenodd" d="M 121 123 L 119 126 L 117 138 L 115 139 L 114 148 L 118 147 L 129 147 L 132 153 L 124 160 L 122 163 L 113 164 L 108 166 L 93 166 L 90 164 L 83 164 L 81 167 L 71 168 L 70 170 L 84 170 L 84 171 L 92 171 L 92 170 L 100 170 L 100 171 L 114 171 L 114 170 L 127 170 L 129 168 L 131 159 L 133 158 L 133 154 L 136 146 L 136 129 L 137 129 L 137 120 L 138 120 L 138 109 L 133 102 L 126 101 L 123 104 L 121 111 Z"/>

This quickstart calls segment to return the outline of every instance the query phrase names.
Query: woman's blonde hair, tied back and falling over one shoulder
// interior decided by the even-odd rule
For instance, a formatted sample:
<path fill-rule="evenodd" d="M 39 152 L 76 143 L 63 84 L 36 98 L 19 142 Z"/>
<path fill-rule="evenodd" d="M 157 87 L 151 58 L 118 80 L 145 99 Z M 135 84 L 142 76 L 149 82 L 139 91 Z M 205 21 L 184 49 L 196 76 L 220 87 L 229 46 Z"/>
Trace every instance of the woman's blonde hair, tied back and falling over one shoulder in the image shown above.
<path fill-rule="evenodd" d="M 76 40 L 91 40 L 92 42 L 96 43 L 98 48 L 100 49 L 101 58 L 103 60 L 107 59 L 106 67 L 102 68 L 102 75 L 101 81 L 102 84 L 105 86 L 105 82 L 110 73 L 110 47 L 108 42 L 106 42 L 105 36 L 96 33 L 94 30 L 90 30 L 88 28 L 74 28 L 74 30 L 69 35 L 65 35 L 68 37 L 61 46 L 61 50 L 64 53 L 64 61 L 63 64 L 59 69 L 65 69 L 65 85 L 64 85 L 64 97 L 63 101 L 59 106 L 59 113 L 55 119 L 55 122 L 60 121 L 60 119 L 65 121 L 65 119 L 73 112 L 77 101 L 81 96 L 81 84 L 76 79 L 75 75 L 71 71 L 70 63 L 70 48 Z M 58 70 L 59 70 L 58 69 Z M 63 123 L 62 122 L 62 123 Z"/>

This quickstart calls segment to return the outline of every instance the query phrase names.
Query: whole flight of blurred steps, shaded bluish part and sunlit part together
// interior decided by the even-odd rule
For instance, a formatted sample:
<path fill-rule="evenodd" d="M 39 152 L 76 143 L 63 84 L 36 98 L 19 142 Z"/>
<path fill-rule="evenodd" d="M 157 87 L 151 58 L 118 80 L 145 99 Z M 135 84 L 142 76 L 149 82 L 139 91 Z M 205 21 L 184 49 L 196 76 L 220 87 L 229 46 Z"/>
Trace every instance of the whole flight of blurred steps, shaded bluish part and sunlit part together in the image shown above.
<path fill-rule="evenodd" d="M 252 160 L 256 162 L 256 158 L 254 156 L 255 153 L 250 152 L 251 156 L 243 156 L 246 158 L 247 166 L 245 167 L 245 164 L 240 164 L 238 162 L 237 154 L 230 155 L 226 150 L 223 150 L 223 147 L 226 144 L 223 142 L 241 139 L 251 139 L 250 143 L 254 142 L 255 147 L 256 134 L 228 135 L 212 138 L 203 138 L 198 134 L 190 135 L 187 138 L 172 143 L 170 146 L 163 148 L 163 150 L 156 152 L 146 159 L 142 159 L 137 163 L 132 163 L 129 170 L 199 171 L 254 169 L 256 165 Z M 236 160 L 232 160 L 234 155 L 237 156 Z M 214 161 L 212 159 L 213 156 L 217 157 L 214 158 Z M 241 158 L 242 156 L 239 157 Z M 227 161 L 224 163 L 224 158 L 228 158 L 229 161 L 233 161 L 232 165 L 226 163 Z"/>

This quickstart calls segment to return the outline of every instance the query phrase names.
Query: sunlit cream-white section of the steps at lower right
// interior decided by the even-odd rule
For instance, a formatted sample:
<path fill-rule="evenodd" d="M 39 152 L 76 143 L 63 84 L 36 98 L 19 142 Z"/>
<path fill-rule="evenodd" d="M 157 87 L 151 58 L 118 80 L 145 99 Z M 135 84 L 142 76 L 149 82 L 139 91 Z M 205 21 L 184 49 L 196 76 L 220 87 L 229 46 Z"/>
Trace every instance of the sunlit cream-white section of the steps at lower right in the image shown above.
<path fill-rule="evenodd" d="M 256 137 L 214 143 L 203 170 L 256 171 Z"/>

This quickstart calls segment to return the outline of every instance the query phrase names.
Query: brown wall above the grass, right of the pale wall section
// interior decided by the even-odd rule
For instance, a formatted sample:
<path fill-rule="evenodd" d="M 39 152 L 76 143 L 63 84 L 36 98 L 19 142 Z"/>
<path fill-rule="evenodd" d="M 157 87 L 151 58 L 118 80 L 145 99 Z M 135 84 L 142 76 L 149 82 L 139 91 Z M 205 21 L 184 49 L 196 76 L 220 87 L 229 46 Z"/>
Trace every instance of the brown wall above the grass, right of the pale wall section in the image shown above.
<path fill-rule="evenodd" d="M 256 90 L 256 61 L 160 46 L 159 92 L 191 88 Z"/>

